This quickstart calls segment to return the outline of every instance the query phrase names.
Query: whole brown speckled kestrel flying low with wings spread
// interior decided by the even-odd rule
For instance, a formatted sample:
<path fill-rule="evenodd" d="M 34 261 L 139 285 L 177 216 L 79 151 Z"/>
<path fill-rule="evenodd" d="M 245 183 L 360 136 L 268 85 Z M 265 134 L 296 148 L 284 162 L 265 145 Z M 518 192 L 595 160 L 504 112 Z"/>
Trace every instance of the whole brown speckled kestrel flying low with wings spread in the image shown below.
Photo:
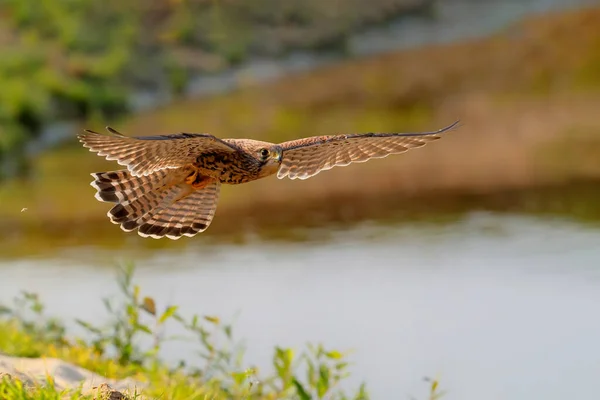
<path fill-rule="evenodd" d="M 335 166 L 422 147 L 458 122 L 433 132 L 314 136 L 279 144 L 206 133 L 127 137 L 111 127 L 107 135 L 86 129 L 78 138 L 126 167 L 91 174 L 96 199 L 115 203 L 107 214 L 111 222 L 143 237 L 179 239 L 208 228 L 222 184 L 274 174 L 307 179 Z"/>

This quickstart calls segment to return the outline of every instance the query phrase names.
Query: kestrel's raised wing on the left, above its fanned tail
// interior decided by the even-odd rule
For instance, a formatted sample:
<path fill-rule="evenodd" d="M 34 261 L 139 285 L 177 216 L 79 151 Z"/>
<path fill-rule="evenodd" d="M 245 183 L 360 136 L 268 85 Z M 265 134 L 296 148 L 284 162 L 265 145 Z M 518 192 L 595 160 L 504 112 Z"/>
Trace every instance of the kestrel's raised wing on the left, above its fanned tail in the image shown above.
<path fill-rule="evenodd" d="M 134 176 L 146 176 L 167 168 L 180 168 L 196 161 L 198 155 L 234 152 L 236 148 L 215 136 L 202 133 L 127 137 L 106 128 L 112 135 L 86 130 L 77 137 L 84 147 L 116 160 Z"/>

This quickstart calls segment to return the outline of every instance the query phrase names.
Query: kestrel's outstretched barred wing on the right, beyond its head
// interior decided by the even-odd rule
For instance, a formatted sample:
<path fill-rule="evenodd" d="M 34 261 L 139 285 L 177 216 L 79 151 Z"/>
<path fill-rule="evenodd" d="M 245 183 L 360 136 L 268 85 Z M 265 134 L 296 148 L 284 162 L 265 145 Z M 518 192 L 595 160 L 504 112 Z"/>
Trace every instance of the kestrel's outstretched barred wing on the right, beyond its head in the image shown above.
<path fill-rule="evenodd" d="M 404 153 L 439 139 L 439 134 L 455 128 L 458 122 L 434 132 L 314 136 L 284 142 L 280 144 L 283 156 L 277 177 L 308 179 L 336 166 Z"/>

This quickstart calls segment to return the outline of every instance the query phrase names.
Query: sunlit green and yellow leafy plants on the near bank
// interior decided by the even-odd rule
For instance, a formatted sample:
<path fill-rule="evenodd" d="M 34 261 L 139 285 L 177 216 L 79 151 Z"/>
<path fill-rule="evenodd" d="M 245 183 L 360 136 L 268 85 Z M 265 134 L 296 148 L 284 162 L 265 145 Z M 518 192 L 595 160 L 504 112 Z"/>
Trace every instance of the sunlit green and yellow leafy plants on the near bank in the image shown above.
<path fill-rule="evenodd" d="M 146 385 L 141 393 L 144 398 L 369 398 L 364 384 L 352 396 L 339 388 L 349 375 L 345 353 L 311 344 L 300 354 L 291 348 L 275 347 L 273 372 L 265 374 L 246 364 L 244 348 L 234 341 L 232 326 L 218 317 L 185 318 L 177 306 L 161 307 L 152 297 L 142 296 L 133 282 L 131 265 L 120 270 L 118 284 L 121 301 L 104 299 L 110 314 L 106 324 L 76 321 L 87 333 L 84 338 L 68 337 L 60 320 L 46 316 L 38 296 L 23 292 L 13 305 L 0 307 L 0 351 L 19 357 L 59 358 L 109 379 L 129 377 Z M 167 336 L 167 325 L 172 324 L 178 324 L 186 334 Z M 189 360 L 177 365 L 165 363 L 161 349 L 172 340 L 192 343 L 190 351 L 195 348 L 198 360 L 193 365 L 188 365 Z M 77 391 L 60 393 L 53 388 L 51 378 L 46 383 L 46 387 L 27 389 L 18 377 L 0 377 L 0 396 L 7 400 L 64 398 L 59 394 L 81 398 Z M 437 383 L 431 392 L 437 393 Z"/>

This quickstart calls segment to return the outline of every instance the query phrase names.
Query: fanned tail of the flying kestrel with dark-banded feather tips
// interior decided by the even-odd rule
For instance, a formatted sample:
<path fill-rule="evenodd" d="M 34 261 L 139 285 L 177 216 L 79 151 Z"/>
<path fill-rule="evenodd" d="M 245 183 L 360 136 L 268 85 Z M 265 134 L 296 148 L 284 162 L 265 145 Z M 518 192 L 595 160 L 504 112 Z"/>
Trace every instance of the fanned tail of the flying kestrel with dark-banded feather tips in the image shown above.
<path fill-rule="evenodd" d="M 173 170 L 139 177 L 128 170 L 92 175 L 96 198 L 117 203 L 107 213 L 111 222 L 126 232 L 138 229 L 143 237 L 194 236 L 208 228 L 216 211 L 218 182 L 194 190 Z"/>

